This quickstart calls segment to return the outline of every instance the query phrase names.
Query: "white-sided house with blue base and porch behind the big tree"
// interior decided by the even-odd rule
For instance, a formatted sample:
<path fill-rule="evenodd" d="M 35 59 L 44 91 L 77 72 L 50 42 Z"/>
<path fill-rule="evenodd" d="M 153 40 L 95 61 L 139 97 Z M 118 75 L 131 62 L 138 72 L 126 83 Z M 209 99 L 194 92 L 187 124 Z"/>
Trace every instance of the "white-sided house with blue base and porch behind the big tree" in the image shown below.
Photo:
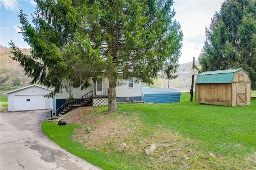
<path fill-rule="evenodd" d="M 128 102 L 128 101 L 142 101 L 142 83 L 135 83 L 135 78 L 131 78 L 128 81 L 123 80 L 122 85 L 116 87 L 116 101 Z M 97 77 L 96 83 L 89 81 L 90 86 L 81 90 L 81 87 L 72 87 L 72 95 L 75 99 L 74 105 L 82 103 L 86 98 L 92 97 L 93 106 L 108 105 L 108 78 Z M 68 86 L 68 82 L 66 85 Z M 60 113 L 58 111 L 62 107 L 63 110 L 67 106 L 64 106 L 66 99 L 69 97 L 69 93 L 65 89 L 62 89 L 62 93 L 55 95 L 53 99 L 54 113 Z"/>

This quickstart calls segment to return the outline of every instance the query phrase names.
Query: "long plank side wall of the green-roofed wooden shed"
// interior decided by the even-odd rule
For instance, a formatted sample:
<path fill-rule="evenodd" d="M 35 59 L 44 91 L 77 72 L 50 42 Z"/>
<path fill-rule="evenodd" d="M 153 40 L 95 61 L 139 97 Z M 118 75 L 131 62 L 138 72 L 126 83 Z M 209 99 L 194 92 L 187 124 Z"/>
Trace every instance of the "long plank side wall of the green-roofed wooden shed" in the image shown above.
<path fill-rule="evenodd" d="M 232 84 L 196 84 L 196 103 L 232 106 Z"/>

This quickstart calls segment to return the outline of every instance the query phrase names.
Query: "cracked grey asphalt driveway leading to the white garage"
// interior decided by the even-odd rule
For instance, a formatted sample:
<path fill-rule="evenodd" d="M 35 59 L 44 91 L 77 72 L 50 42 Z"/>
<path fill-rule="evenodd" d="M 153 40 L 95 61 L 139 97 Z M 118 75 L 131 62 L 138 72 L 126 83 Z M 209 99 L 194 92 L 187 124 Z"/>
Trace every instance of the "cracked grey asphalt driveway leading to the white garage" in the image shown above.
<path fill-rule="evenodd" d="M 0 113 L 1 170 L 99 170 L 60 148 L 41 130 L 50 110 Z"/>

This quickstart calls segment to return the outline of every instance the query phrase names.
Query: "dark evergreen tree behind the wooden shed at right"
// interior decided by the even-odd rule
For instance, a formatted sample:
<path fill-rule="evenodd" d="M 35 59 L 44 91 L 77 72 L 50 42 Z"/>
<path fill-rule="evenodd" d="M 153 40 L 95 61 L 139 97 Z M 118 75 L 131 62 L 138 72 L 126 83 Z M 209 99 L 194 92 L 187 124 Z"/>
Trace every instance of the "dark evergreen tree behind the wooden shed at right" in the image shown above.
<path fill-rule="evenodd" d="M 256 90 L 256 1 L 226 0 L 206 28 L 202 71 L 243 68 Z"/>

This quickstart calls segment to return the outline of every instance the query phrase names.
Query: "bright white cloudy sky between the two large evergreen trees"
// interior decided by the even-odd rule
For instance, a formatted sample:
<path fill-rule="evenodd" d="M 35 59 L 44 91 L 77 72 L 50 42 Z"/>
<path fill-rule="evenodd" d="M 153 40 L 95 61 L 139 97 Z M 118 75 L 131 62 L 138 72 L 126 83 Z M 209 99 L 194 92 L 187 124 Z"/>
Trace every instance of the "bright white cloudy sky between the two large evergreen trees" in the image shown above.
<path fill-rule="evenodd" d="M 211 18 L 224 0 L 175 0 L 175 19 L 183 32 L 182 55 L 179 63 L 198 59 L 204 46 L 205 27 L 209 27 Z"/>

